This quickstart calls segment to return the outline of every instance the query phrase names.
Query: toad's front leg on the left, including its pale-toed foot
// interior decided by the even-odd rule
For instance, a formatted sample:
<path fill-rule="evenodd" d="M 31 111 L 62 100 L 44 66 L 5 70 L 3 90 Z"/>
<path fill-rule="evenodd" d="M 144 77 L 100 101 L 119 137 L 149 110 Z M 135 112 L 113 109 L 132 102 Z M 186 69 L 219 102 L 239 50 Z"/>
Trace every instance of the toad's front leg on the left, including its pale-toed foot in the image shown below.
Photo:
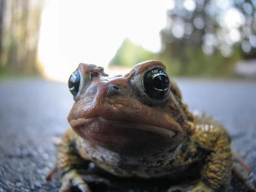
<path fill-rule="evenodd" d="M 81 192 L 90 192 L 87 182 L 109 185 L 108 180 L 88 173 L 90 161 L 79 155 L 76 149 L 78 137 L 72 129 L 68 129 L 58 144 L 56 169 L 60 172 L 62 183 L 59 192 L 68 192 L 73 188 L 78 188 Z"/>

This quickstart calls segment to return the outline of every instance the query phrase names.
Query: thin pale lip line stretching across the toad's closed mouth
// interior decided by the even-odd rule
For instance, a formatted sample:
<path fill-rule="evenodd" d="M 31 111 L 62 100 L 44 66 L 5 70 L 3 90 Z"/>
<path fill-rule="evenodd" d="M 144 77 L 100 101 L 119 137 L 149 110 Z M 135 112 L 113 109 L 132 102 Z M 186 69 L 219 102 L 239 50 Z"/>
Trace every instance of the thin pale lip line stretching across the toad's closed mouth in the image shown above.
<path fill-rule="evenodd" d="M 86 127 L 86 125 L 89 125 L 92 122 L 102 122 L 103 124 L 108 124 L 108 125 L 113 125 L 114 127 L 120 127 L 120 128 L 134 128 L 134 129 L 140 129 L 140 130 L 144 130 L 144 131 L 151 131 L 151 132 L 156 132 L 159 134 L 164 134 L 164 135 L 169 135 L 171 137 L 173 137 L 175 135 L 175 132 L 167 129 L 167 128 L 163 128 L 157 125 L 148 125 L 145 123 L 140 123 L 140 122 L 134 122 L 131 120 L 120 120 L 120 119 L 107 119 L 101 116 L 93 116 L 90 117 L 88 119 L 86 118 L 77 118 L 77 119 L 72 119 L 70 121 L 70 125 L 72 127 L 76 127 L 76 126 L 84 126 Z"/>

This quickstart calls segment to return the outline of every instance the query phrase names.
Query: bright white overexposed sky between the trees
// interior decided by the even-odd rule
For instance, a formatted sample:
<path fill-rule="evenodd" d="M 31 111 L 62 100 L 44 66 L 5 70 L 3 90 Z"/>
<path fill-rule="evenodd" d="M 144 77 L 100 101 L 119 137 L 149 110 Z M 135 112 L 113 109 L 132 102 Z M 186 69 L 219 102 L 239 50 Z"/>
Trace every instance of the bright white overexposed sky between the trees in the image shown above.
<path fill-rule="evenodd" d="M 67 81 L 80 62 L 106 67 L 126 37 L 159 51 L 170 6 L 172 0 L 47 0 L 39 41 L 45 73 Z"/>

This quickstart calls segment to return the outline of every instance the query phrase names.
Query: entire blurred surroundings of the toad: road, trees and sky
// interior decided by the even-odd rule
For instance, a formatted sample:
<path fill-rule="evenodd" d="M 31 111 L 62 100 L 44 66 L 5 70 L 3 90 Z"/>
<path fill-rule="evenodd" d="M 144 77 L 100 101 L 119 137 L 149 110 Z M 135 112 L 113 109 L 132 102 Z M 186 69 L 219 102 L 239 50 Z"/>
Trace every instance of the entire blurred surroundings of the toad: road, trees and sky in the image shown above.
<path fill-rule="evenodd" d="M 0 191 L 58 191 L 58 176 L 45 175 L 80 62 L 118 75 L 151 59 L 166 64 L 189 109 L 227 127 L 256 173 L 256 0 L 0 0 Z"/>

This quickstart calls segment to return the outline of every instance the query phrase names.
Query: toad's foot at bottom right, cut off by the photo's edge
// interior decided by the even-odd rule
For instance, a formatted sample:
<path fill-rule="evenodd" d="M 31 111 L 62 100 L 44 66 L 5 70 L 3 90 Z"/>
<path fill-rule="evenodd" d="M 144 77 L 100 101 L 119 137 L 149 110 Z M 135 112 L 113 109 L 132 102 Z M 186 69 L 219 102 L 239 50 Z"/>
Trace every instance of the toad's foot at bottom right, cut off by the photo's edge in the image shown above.
<path fill-rule="evenodd" d="M 168 192 L 216 192 L 214 189 L 199 182 L 196 185 L 192 184 L 182 184 L 177 186 L 172 186 L 168 189 Z"/>

